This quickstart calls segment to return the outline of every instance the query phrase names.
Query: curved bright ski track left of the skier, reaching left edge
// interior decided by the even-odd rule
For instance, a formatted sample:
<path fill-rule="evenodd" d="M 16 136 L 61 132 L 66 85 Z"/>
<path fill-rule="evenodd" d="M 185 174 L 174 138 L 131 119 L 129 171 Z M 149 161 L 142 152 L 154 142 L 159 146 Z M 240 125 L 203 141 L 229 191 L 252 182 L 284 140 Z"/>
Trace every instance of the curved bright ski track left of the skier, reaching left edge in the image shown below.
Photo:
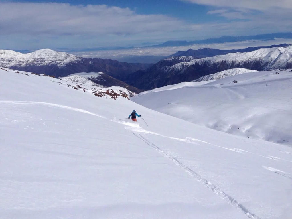
<path fill-rule="evenodd" d="M 6 103 L 6 104 L 25 104 L 25 105 L 43 105 L 43 106 L 47 106 L 47 107 L 54 107 L 54 108 L 60 108 L 60 109 L 69 109 L 72 111 L 76 111 L 76 112 L 82 112 L 82 113 L 86 113 L 89 115 L 93 115 L 93 116 L 97 116 L 100 118 L 105 119 L 105 117 L 102 117 L 100 115 L 94 114 L 92 112 L 86 111 L 84 109 L 79 109 L 79 108 L 74 108 L 74 107 L 68 107 L 68 106 L 64 106 L 64 105 L 60 105 L 60 104 L 55 104 L 55 103 L 47 103 L 47 102 L 37 102 L 37 101 L 12 101 L 12 100 L 0 100 L 0 103 Z"/>

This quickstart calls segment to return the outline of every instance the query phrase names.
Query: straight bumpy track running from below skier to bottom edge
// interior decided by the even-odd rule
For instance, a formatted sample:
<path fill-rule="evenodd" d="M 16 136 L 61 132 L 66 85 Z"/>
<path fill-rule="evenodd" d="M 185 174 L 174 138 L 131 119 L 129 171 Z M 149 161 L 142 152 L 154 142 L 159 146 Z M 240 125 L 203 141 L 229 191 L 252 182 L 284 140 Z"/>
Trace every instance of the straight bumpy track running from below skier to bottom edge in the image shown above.
<path fill-rule="evenodd" d="M 255 215 L 254 213 L 251 213 L 247 208 L 245 208 L 237 200 L 235 200 L 230 195 L 228 195 L 224 191 L 222 191 L 220 189 L 220 187 L 214 185 L 213 183 L 211 183 L 207 179 L 203 178 L 201 175 L 199 175 L 198 173 L 196 173 L 195 171 L 193 171 L 191 168 L 189 168 L 188 166 L 184 165 L 178 159 L 176 159 L 175 157 L 173 157 L 170 153 L 166 152 L 165 150 L 162 150 L 160 147 L 158 147 L 153 142 L 151 142 L 150 140 L 148 140 L 147 138 L 145 138 L 143 135 L 136 134 L 135 132 L 132 132 L 132 133 L 137 138 L 140 138 L 142 141 L 144 141 L 147 145 L 149 145 L 149 146 L 153 147 L 155 150 L 157 150 L 161 155 L 163 155 L 164 157 L 170 159 L 174 164 L 176 164 L 176 165 L 180 166 L 181 168 L 183 168 L 183 170 L 185 172 L 187 172 L 188 174 L 190 174 L 193 178 L 195 178 L 201 184 L 203 184 L 204 186 L 206 186 L 213 193 L 215 193 L 216 195 L 218 195 L 219 197 L 221 197 L 222 199 L 224 199 L 225 201 L 227 201 L 229 204 L 231 204 L 235 208 L 239 209 L 248 218 L 260 219 L 257 215 Z"/>

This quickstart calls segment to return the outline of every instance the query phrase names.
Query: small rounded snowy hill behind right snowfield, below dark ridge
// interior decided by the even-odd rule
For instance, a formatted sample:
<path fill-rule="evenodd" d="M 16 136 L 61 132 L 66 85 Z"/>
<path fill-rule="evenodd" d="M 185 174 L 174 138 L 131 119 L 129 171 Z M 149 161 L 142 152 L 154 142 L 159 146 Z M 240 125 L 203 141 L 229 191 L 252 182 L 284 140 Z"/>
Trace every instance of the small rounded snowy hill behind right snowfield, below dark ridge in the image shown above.
<path fill-rule="evenodd" d="M 237 75 L 237 74 L 244 74 L 246 72 L 257 72 L 257 71 L 256 70 L 246 69 L 246 68 L 233 68 L 233 69 L 228 69 L 228 70 L 224 70 L 224 71 L 221 71 L 221 72 L 217 72 L 215 74 L 205 75 L 203 77 L 200 77 L 197 80 L 194 80 L 193 82 L 219 80 L 219 79 L 230 77 L 230 76 L 234 76 L 234 75 Z"/>

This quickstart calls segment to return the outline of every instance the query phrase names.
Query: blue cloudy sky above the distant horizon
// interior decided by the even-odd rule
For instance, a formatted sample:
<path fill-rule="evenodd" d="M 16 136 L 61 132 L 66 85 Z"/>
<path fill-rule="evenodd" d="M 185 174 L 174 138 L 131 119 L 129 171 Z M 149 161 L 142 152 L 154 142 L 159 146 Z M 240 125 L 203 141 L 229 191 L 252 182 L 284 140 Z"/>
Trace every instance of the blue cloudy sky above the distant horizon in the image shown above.
<path fill-rule="evenodd" d="M 290 0 L 0 0 L 0 49 L 137 46 L 290 32 Z"/>

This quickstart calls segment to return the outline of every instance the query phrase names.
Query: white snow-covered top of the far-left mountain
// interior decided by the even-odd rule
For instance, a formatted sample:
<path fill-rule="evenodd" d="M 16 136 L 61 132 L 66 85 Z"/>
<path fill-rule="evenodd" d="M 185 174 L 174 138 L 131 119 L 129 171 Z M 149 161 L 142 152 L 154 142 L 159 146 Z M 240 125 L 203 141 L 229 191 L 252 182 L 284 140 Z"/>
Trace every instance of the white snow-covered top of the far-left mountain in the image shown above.
<path fill-rule="evenodd" d="M 81 58 L 64 52 L 56 52 L 51 49 L 41 49 L 33 53 L 18 53 L 11 50 L 0 50 L 0 66 L 29 66 L 29 65 L 58 65 L 65 66 L 68 62 L 74 62 Z"/>

